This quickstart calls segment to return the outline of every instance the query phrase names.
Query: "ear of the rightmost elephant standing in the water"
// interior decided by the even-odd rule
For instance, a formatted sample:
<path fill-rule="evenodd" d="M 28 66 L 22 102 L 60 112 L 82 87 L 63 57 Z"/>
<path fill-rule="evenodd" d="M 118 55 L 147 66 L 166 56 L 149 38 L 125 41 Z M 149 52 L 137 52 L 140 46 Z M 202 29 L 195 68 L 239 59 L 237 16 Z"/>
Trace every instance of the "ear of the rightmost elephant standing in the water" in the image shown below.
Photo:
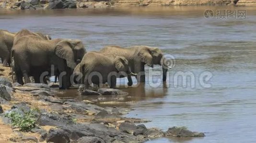
<path fill-rule="evenodd" d="M 138 52 L 138 56 L 142 62 L 145 62 L 149 66 L 153 66 L 153 57 L 149 48 L 142 48 Z"/>

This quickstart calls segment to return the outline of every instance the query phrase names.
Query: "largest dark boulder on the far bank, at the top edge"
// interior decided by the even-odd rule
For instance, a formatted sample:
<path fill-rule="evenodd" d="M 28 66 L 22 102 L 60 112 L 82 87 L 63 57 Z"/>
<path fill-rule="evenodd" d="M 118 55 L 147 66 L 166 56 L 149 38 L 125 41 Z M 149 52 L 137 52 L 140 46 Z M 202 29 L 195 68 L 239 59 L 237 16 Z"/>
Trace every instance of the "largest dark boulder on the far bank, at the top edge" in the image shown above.
<path fill-rule="evenodd" d="M 47 9 L 66 9 L 76 8 L 76 2 L 73 0 L 50 0 Z"/>

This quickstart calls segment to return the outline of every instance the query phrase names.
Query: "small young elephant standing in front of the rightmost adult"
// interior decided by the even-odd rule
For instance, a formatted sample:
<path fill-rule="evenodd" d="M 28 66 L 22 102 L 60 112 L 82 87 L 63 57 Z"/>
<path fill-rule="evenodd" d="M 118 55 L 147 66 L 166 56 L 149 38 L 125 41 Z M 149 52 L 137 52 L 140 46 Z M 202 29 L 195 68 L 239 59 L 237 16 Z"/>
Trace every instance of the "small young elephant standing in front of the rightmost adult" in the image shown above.
<path fill-rule="evenodd" d="M 88 89 L 92 83 L 99 87 L 106 82 L 110 88 L 116 88 L 116 78 L 119 76 L 137 75 L 130 71 L 124 57 L 104 55 L 96 51 L 87 52 L 74 72 L 76 75 L 80 72 L 83 89 Z"/>

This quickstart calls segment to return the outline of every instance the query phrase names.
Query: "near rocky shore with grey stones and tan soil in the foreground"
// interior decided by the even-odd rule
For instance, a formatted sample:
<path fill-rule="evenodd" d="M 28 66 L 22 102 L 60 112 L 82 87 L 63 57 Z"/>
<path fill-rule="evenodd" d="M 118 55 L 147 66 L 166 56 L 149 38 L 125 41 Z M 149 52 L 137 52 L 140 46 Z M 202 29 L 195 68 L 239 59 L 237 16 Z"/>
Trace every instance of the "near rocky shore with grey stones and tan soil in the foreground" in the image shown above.
<path fill-rule="evenodd" d="M 160 137 L 205 136 L 186 127 L 147 128 L 142 123 L 150 121 L 122 116 L 130 109 L 58 99 L 46 84 L 22 86 L 10 78 L 10 68 L 0 64 L 1 143 L 141 143 Z"/>

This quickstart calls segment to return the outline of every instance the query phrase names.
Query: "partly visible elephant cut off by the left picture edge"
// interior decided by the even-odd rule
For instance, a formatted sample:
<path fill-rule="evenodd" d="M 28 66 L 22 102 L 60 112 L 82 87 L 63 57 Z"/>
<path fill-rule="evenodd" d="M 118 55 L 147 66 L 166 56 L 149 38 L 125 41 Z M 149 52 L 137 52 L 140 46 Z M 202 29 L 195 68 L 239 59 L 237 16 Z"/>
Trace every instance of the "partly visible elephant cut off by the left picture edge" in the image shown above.
<path fill-rule="evenodd" d="M 0 30 L 0 58 L 4 67 L 11 65 L 10 55 L 15 34 L 16 33 Z"/>

